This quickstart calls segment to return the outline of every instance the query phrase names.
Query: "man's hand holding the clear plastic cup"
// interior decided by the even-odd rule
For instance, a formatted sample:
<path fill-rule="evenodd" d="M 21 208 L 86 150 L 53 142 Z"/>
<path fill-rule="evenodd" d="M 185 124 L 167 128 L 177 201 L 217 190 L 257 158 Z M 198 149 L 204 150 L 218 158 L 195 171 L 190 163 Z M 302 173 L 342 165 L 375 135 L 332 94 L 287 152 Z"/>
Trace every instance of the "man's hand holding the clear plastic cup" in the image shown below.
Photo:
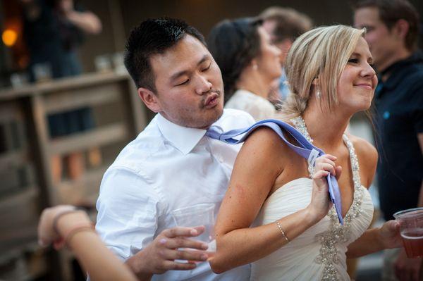
<path fill-rule="evenodd" d="M 162 231 L 149 246 L 126 261 L 140 280 L 149 280 L 153 274 L 167 270 L 192 270 L 196 262 L 207 261 L 208 245 L 188 239 L 204 232 L 200 227 L 173 227 Z M 180 248 L 194 249 L 192 251 Z M 200 250 L 200 251 L 197 251 Z M 180 263 L 175 260 L 187 261 Z"/>

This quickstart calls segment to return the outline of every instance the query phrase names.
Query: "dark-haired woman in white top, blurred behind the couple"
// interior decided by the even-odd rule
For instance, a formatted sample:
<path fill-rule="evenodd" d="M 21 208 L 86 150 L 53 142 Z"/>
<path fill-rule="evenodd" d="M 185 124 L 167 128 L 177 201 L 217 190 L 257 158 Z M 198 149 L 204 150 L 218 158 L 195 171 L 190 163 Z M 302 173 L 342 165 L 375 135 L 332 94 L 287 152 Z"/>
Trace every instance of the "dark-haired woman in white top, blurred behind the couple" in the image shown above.
<path fill-rule="evenodd" d="M 250 113 L 255 120 L 272 118 L 267 99 L 271 82 L 281 75 L 281 51 L 271 44 L 262 20 L 223 20 L 212 28 L 209 50 L 221 69 L 225 107 Z"/>

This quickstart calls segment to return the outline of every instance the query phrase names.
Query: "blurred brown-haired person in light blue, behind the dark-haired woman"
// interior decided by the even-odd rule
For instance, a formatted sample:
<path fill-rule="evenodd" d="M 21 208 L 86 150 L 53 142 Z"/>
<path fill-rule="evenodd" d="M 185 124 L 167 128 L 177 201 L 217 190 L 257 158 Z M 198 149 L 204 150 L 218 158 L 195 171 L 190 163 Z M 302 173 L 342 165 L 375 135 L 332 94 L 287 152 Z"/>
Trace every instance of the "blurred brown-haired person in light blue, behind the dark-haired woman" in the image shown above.
<path fill-rule="evenodd" d="M 312 29 L 313 21 L 308 15 L 300 13 L 293 8 L 282 8 L 272 6 L 266 8 L 259 18 L 263 20 L 263 27 L 269 33 L 271 42 L 281 50 L 279 56 L 282 65 L 282 75 L 276 81 L 276 91 L 272 91 L 271 100 L 286 99 L 289 94 L 289 88 L 286 84 L 286 73 L 283 70 L 286 55 L 292 46 L 294 40 Z"/>

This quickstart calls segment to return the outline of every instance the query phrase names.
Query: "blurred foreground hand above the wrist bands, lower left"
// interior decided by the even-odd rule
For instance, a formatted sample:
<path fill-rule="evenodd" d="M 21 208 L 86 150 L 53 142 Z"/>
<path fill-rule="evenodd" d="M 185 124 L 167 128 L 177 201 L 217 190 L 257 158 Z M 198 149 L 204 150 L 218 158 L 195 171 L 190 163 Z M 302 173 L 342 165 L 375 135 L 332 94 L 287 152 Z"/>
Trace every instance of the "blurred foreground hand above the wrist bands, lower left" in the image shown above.
<path fill-rule="evenodd" d="M 59 233 L 54 230 L 54 218 L 63 212 L 75 210 L 74 206 L 59 205 L 51 208 L 46 208 L 42 211 L 38 223 L 38 243 L 41 246 L 49 246 L 60 238 Z"/>

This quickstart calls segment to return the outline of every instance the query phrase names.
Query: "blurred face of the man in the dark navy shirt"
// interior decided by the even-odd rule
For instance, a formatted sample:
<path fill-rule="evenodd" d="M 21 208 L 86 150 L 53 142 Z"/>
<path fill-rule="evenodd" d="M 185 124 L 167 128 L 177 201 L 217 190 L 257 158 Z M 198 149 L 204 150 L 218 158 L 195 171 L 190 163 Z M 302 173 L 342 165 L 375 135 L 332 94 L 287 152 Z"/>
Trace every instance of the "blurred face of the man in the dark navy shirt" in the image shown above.
<path fill-rule="evenodd" d="M 379 70 L 386 68 L 400 46 L 402 39 L 398 38 L 380 20 L 379 10 L 376 7 L 359 8 L 354 14 L 354 25 L 357 28 L 366 27 L 364 35 L 374 58 L 374 65 Z"/>

